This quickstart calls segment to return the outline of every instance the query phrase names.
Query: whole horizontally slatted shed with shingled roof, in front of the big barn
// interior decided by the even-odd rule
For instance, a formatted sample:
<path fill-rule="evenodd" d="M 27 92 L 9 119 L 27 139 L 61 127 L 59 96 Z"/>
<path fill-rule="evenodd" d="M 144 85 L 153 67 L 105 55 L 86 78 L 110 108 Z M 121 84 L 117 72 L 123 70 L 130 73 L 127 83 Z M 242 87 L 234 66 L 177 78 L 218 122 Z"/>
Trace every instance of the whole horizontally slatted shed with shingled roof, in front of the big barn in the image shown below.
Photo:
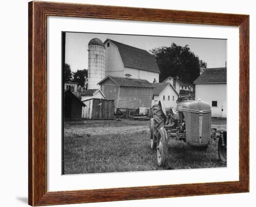
<path fill-rule="evenodd" d="M 148 80 L 107 76 L 98 84 L 106 98 L 115 100 L 115 110 L 151 106 L 154 86 Z"/>

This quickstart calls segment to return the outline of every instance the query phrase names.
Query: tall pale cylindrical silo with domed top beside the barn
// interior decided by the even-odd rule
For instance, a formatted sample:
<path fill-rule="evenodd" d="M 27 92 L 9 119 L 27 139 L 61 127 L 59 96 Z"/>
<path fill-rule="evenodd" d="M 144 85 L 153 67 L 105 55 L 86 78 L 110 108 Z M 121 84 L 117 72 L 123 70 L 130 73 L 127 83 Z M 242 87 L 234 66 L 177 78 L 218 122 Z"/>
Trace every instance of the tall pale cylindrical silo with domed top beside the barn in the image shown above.
<path fill-rule="evenodd" d="M 88 89 L 98 89 L 97 85 L 105 78 L 105 47 L 103 42 L 94 38 L 88 43 Z"/>

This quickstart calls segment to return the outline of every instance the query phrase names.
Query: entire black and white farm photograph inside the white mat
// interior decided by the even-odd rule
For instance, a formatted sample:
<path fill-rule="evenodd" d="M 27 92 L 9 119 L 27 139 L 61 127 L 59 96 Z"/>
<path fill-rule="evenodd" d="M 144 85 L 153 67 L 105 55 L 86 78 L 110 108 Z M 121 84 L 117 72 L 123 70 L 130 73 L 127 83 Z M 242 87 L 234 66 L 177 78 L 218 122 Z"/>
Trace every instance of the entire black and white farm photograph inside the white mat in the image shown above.
<path fill-rule="evenodd" d="M 227 40 L 62 32 L 62 174 L 227 167 Z"/>

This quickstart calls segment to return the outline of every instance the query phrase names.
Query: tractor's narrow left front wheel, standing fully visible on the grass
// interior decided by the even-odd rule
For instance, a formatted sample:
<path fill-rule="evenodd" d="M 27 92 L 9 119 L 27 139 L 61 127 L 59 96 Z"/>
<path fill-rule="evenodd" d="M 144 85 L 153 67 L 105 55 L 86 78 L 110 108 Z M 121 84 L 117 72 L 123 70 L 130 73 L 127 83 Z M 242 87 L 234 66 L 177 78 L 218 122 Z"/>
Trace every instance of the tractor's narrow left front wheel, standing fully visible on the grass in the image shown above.
<path fill-rule="evenodd" d="M 159 129 L 156 141 L 157 164 L 164 167 L 168 153 L 168 136 L 164 127 Z"/>

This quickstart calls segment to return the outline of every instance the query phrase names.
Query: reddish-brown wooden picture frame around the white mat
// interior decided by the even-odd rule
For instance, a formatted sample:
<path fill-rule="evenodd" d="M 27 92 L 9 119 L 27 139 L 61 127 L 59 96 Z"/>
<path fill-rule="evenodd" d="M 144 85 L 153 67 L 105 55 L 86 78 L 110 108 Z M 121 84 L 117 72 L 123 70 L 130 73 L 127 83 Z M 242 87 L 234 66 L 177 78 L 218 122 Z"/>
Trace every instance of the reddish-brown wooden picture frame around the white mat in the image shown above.
<path fill-rule="evenodd" d="M 47 192 L 47 16 L 238 26 L 239 181 Z M 28 203 L 32 206 L 249 192 L 249 15 L 32 1 L 28 3 Z"/>

